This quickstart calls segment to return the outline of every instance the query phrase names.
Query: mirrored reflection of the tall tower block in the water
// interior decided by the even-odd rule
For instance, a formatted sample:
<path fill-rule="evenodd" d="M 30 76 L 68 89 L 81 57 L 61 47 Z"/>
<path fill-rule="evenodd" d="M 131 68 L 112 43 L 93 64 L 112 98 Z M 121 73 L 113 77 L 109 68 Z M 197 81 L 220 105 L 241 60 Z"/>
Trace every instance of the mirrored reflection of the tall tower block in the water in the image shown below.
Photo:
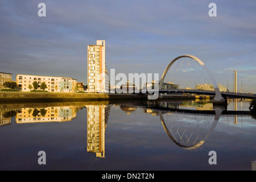
<path fill-rule="evenodd" d="M 108 125 L 110 105 L 88 105 L 87 107 L 87 151 L 96 157 L 105 157 L 105 130 Z"/>

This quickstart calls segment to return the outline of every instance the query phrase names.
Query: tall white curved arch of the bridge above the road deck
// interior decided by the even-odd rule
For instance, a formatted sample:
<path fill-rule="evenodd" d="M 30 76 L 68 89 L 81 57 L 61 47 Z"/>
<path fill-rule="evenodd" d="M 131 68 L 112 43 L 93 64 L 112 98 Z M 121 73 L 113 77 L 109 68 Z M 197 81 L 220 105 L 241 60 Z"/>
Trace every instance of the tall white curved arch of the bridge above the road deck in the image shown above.
<path fill-rule="evenodd" d="M 174 60 L 171 61 L 170 64 L 168 64 L 168 66 L 166 67 L 166 69 L 164 70 L 164 73 L 162 75 L 162 78 L 160 80 L 160 83 L 159 83 L 159 89 L 162 88 L 162 85 L 163 85 L 163 81 L 164 81 L 164 78 L 166 77 L 166 74 L 168 72 L 168 70 L 171 68 L 172 64 L 175 63 L 175 61 L 183 58 L 183 57 L 189 57 L 195 61 L 197 61 L 204 69 L 205 71 L 207 72 L 208 76 L 210 77 L 210 80 L 212 80 L 212 84 L 213 84 L 213 87 L 214 87 L 214 90 L 215 90 L 215 97 L 214 97 L 214 101 L 217 101 L 217 102 L 223 102 L 225 101 L 224 98 L 222 97 L 221 95 L 221 92 L 220 92 L 220 89 L 218 88 L 218 85 L 216 83 L 216 80 L 215 78 L 212 76 L 212 73 L 210 73 L 209 69 L 207 68 L 207 66 L 203 63 L 203 61 L 201 61 L 198 57 L 196 56 L 193 56 L 193 55 L 181 55 L 181 56 L 178 56 L 176 57 Z"/>

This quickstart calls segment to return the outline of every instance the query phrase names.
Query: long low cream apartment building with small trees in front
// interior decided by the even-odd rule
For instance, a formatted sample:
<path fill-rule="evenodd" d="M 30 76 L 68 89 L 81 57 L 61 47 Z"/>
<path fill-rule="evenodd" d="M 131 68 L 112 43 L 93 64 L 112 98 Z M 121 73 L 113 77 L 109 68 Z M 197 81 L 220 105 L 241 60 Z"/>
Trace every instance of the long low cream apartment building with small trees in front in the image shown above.
<path fill-rule="evenodd" d="M 17 85 L 22 92 L 30 92 L 33 90 L 33 82 L 41 85 L 46 83 L 48 92 L 75 92 L 77 80 L 71 77 L 52 77 L 52 76 L 36 76 L 36 75 L 16 75 Z M 40 90 L 40 86 L 38 88 Z"/>

